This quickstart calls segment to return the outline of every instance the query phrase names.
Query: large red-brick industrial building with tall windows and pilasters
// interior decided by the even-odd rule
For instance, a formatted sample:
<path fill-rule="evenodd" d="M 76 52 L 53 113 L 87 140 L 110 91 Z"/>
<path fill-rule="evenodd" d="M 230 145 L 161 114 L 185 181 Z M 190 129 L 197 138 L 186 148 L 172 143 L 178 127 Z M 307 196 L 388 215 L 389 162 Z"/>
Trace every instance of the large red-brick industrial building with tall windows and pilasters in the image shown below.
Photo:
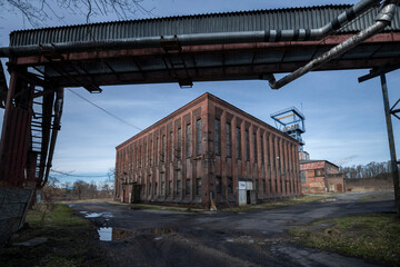
<path fill-rule="evenodd" d="M 299 196 L 298 146 L 204 93 L 117 147 L 116 198 L 220 207 Z"/>

